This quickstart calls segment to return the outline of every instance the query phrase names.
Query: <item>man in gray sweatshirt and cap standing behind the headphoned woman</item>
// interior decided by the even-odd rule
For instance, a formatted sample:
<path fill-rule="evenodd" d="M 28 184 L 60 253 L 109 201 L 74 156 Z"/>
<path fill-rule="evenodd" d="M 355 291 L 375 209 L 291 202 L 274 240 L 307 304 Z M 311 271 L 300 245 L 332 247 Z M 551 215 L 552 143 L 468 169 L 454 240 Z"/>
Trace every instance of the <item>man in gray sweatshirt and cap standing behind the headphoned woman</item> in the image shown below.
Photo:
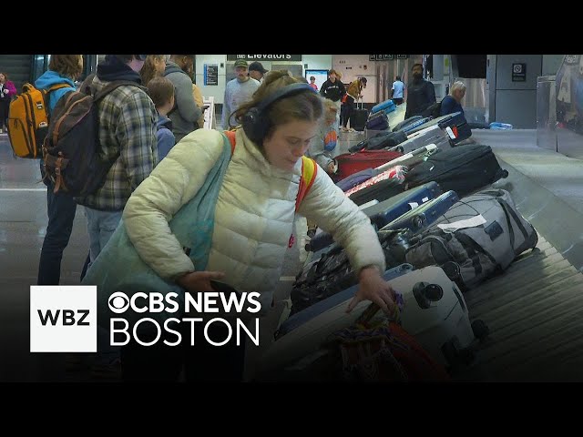
<path fill-rule="evenodd" d="M 236 121 L 231 117 L 237 109 L 244 103 L 251 101 L 253 93 L 257 91 L 260 83 L 258 80 L 248 76 L 249 64 L 243 59 L 235 61 L 235 75 L 225 87 L 225 97 L 222 104 L 221 125 L 224 130 L 236 126 Z"/>

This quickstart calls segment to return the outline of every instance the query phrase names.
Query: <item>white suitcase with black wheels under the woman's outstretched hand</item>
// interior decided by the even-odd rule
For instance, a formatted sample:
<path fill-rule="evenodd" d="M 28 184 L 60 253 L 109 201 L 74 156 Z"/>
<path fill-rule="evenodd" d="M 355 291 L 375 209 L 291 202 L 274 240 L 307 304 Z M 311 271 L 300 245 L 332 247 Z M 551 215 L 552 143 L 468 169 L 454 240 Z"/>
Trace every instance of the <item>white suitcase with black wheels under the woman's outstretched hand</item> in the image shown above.
<path fill-rule="evenodd" d="M 471 361 L 473 343 L 476 338 L 486 338 L 487 327 L 481 320 L 470 324 L 464 297 L 443 269 L 430 266 L 413 270 L 388 282 L 403 295 L 400 319 L 404 330 L 436 361 L 452 367 Z M 363 300 L 347 314 L 352 299 L 349 297 L 281 336 L 261 357 L 261 371 L 300 365 L 300 360 L 321 351 L 333 332 L 352 326 L 364 317 L 365 311 L 374 310 L 375 305 Z"/>

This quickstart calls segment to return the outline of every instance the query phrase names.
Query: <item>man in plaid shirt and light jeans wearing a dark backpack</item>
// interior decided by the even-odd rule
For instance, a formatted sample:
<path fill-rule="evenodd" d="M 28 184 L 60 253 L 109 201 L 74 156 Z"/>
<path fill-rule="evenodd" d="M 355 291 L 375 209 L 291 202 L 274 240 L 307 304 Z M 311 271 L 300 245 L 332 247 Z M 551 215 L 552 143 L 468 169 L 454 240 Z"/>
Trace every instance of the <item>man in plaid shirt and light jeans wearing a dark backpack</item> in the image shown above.
<path fill-rule="evenodd" d="M 158 113 L 139 76 L 145 59 L 145 55 L 107 55 L 91 84 L 98 93 L 110 82 L 135 83 L 118 86 L 98 102 L 100 155 L 115 162 L 101 188 L 76 198 L 86 207 L 91 262 L 118 227 L 131 193 L 158 164 Z"/>

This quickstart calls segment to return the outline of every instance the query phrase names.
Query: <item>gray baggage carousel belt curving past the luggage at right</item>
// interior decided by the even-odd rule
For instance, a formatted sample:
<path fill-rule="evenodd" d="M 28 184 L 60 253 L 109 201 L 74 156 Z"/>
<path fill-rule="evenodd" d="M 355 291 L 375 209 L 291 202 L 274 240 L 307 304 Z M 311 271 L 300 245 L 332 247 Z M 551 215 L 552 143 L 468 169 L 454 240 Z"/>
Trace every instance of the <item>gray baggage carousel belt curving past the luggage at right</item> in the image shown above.
<path fill-rule="evenodd" d="M 536 131 L 474 130 L 509 176 L 508 190 L 538 244 L 465 293 L 490 335 L 455 381 L 583 381 L 583 160 L 536 146 Z"/>

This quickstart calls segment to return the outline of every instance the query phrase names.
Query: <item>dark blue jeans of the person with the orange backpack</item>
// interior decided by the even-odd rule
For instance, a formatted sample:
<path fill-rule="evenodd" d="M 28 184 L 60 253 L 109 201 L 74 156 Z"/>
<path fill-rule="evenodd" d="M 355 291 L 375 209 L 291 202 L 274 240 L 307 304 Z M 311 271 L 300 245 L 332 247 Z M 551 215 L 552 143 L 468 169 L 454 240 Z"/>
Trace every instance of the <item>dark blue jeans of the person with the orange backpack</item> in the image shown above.
<path fill-rule="evenodd" d="M 46 188 L 46 226 L 43 249 L 38 262 L 38 285 L 58 285 L 61 279 L 61 259 L 63 250 L 71 237 L 77 203 L 65 192 L 53 193 L 53 187 Z"/>

